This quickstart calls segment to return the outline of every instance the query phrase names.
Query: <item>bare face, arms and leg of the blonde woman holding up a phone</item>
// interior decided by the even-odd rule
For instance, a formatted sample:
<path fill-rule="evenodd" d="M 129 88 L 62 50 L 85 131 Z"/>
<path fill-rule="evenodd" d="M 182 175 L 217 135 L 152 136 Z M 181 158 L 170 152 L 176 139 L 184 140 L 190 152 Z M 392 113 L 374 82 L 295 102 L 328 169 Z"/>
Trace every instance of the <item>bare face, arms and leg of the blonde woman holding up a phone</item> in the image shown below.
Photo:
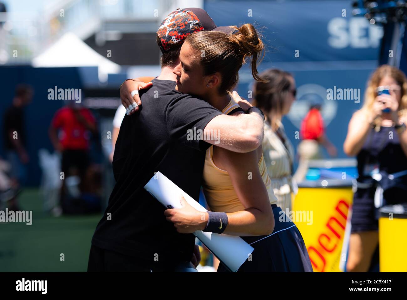
<path fill-rule="evenodd" d="M 385 127 L 403 121 L 403 118 L 399 118 L 397 114 L 397 109 L 401 101 L 400 86 L 396 80 L 389 76 L 384 77 L 380 81 L 379 86 L 383 85 L 390 86 L 390 95 L 382 94 L 376 96 L 372 111 L 359 110 L 355 112 L 350 119 L 348 135 L 344 142 L 344 152 L 349 156 L 357 155 L 357 153 L 361 151 L 368 137 L 369 130 L 376 118 L 381 117 L 381 126 Z M 390 108 L 391 112 L 382 112 L 386 107 Z M 400 145 L 407 155 L 407 131 L 399 134 L 399 139 Z M 352 233 L 349 241 L 349 256 L 346 263 L 346 270 L 348 272 L 367 272 L 378 243 L 379 232 L 377 231 Z"/>

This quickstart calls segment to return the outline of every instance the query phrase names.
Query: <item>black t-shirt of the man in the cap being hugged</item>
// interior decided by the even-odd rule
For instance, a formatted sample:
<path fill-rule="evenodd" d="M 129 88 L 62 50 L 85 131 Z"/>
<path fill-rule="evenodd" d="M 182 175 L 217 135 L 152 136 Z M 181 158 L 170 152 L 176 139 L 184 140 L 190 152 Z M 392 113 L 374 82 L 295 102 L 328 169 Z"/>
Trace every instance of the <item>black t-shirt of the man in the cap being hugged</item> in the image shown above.
<path fill-rule="evenodd" d="M 188 140 L 188 129 L 204 130 L 221 112 L 203 100 L 175 90 L 175 82 L 153 79 L 140 92 L 142 109 L 125 116 L 113 159 L 116 185 L 92 243 L 97 247 L 160 261 L 188 260 L 195 236 L 178 233 L 164 206 L 144 190 L 160 171 L 194 199 L 210 144 Z M 108 220 L 111 213 L 111 220 Z"/>

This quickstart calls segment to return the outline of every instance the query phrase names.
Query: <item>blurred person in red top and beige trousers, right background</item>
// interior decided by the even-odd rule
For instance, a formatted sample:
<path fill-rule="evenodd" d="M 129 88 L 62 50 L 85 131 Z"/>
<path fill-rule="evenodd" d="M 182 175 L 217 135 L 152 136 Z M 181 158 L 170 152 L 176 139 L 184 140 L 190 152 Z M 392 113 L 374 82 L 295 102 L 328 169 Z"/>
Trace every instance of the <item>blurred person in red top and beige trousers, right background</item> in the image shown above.
<path fill-rule="evenodd" d="M 296 182 L 304 180 L 309 167 L 309 160 L 322 158 L 321 146 L 325 147 L 330 156 L 337 155 L 337 149 L 325 135 L 325 125 L 320 110 L 321 101 L 311 101 L 309 112 L 301 123 L 300 136 L 302 141 L 298 145 L 300 161 L 294 174 Z"/>

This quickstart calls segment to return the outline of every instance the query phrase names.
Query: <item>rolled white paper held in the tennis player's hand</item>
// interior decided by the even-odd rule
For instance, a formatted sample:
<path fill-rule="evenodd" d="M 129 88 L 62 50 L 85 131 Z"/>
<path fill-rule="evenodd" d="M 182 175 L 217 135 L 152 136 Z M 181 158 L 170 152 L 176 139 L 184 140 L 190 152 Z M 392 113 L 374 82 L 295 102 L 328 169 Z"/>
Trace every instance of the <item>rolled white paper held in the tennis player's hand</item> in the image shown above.
<path fill-rule="evenodd" d="M 160 172 L 157 172 L 144 188 L 165 207 L 181 208 L 180 199 L 183 196 L 188 204 L 196 210 L 207 211 Z M 236 272 L 254 250 L 239 236 L 200 230 L 195 231 L 194 234 L 232 272 Z"/>

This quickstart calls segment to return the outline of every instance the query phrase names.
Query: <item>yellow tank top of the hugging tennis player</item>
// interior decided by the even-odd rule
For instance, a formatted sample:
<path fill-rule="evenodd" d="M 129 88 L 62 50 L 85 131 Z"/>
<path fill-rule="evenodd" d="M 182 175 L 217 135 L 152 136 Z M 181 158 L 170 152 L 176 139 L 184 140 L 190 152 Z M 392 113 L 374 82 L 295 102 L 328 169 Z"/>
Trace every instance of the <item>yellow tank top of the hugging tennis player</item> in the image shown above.
<path fill-rule="evenodd" d="M 229 114 L 232 110 L 240 107 L 232 99 L 229 104 L 222 109 L 223 114 Z M 267 167 L 263 155 L 258 162 L 263 182 L 267 188 L 270 204 L 277 204 L 277 198 L 271 187 L 271 180 L 267 174 Z M 212 211 L 216 212 L 235 212 L 244 210 L 245 207 L 236 195 L 232 181 L 227 171 L 219 169 L 213 162 L 213 146 L 206 151 L 204 165 L 204 183 L 203 189 L 206 202 Z"/>

